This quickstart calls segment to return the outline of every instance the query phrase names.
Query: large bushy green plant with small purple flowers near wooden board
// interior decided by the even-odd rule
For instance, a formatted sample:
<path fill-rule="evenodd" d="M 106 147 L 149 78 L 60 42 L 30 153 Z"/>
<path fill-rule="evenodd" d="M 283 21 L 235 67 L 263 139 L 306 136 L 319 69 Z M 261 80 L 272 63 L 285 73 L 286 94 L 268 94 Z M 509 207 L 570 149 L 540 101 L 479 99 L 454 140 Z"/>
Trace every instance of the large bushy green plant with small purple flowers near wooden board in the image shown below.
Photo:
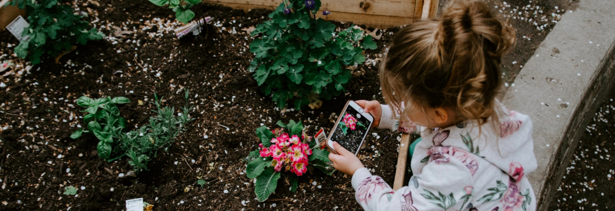
<path fill-rule="evenodd" d="M 346 67 L 365 61 L 363 48 L 376 48 L 362 29 L 336 33 L 335 25 L 315 18 L 319 9 L 320 0 L 284 0 L 251 34 L 260 37 L 250 44 L 249 70 L 280 109 L 288 101 L 301 109 L 344 93 L 352 77 Z"/>

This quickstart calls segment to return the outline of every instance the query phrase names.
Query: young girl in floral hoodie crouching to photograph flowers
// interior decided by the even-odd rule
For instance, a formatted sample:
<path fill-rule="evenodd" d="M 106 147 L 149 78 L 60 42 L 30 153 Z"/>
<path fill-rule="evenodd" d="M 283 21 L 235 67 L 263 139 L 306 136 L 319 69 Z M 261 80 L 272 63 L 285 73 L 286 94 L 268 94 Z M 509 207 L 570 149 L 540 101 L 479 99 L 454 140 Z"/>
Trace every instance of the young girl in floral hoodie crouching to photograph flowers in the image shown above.
<path fill-rule="evenodd" d="M 339 155 L 329 158 L 352 175 L 363 209 L 536 210 L 525 177 L 537 166 L 532 123 L 495 99 L 501 57 L 514 43 L 514 29 L 480 1 L 451 2 L 440 20 L 395 34 L 380 69 L 389 105 L 357 102 L 378 128 L 419 132 L 422 140 L 410 183 L 397 191 L 334 143 Z"/>

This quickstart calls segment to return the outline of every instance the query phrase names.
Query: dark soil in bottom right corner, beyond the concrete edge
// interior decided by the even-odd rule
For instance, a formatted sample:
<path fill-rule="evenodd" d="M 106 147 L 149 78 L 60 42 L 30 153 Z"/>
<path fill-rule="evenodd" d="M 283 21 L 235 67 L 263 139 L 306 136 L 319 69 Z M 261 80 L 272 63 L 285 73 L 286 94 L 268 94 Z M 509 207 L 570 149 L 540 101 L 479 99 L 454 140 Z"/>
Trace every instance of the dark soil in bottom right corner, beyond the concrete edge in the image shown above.
<path fill-rule="evenodd" d="M 615 208 L 615 90 L 583 132 L 549 210 L 613 210 Z"/>

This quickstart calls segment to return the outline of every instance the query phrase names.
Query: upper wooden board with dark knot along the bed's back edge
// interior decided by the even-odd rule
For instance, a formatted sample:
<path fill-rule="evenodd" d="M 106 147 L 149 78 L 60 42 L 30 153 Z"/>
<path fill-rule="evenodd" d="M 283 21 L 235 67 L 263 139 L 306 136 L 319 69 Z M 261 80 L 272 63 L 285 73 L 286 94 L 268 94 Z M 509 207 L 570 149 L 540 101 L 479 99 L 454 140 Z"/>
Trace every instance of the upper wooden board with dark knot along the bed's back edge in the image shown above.
<path fill-rule="evenodd" d="M 322 0 L 320 10 L 335 12 L 386 15 L 395 17 L 414 17 L 416 0 Z M 205 0 L 214 4 L 235 4 L 252 7 L 269 7 L 275 9 L 279 0 Z M 321 11 L 322 12 L 322 11 Z M 320 12 L 319 12 L 320 13 Z"/>

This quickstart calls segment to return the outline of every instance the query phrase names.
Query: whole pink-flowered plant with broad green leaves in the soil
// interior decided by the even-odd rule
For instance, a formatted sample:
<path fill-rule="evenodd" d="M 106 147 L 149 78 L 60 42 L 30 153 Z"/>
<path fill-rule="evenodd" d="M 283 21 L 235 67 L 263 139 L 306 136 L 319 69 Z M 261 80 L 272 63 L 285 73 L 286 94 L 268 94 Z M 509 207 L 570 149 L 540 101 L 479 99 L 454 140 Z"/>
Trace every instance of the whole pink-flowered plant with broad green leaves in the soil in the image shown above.
<path fill-rule="evenodd" d="M 329 152 L 320 149 L 303 131 L 303 123 L 290 120 L 288 124 L 278 121 L 272 131 L 266 126 L 256 129 L 260 138 L 259 149 L 250 152 L 254 158 L 246 167 L 247 177 L 256 178 L 254 191 L 258 201 L 265 201 L 276 190 L 277 180 L 285 175 L 290 191 L 295 192 L 298 178 L 317 168 L 327 175 L 333 174 L 329 165 Z"/>

